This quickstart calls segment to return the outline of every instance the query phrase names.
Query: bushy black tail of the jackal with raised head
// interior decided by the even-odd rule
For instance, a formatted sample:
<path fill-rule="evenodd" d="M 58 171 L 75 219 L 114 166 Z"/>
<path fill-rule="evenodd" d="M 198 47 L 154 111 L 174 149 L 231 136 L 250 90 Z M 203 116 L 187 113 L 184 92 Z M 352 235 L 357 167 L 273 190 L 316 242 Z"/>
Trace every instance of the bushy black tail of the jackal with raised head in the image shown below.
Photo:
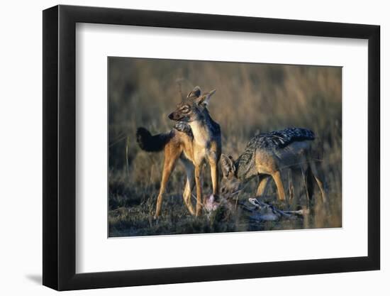
<path fill-rule="evenodd" d="M 146 128 L 138 128 L 136 136 L 138 145 L 142 150 L 147 152 L 159 152 L 164 149 L 169 139 L 172 138 L 172 131 L 152 136 L 150 131 Z"/>

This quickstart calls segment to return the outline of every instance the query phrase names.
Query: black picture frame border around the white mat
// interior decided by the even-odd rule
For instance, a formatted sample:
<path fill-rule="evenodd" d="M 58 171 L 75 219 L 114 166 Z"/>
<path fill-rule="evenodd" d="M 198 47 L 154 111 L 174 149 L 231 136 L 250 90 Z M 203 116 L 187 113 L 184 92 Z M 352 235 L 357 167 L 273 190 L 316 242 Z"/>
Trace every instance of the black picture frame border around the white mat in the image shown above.
<path fill-rule="evenodd" d="M 76 23 L 368 40 L 368 256 L 182 268 L 75 272 Z M 55 6 L 43 11 L 43 285 L 79 290 L 380 268 L 380 27 L 165 11 Z"/>

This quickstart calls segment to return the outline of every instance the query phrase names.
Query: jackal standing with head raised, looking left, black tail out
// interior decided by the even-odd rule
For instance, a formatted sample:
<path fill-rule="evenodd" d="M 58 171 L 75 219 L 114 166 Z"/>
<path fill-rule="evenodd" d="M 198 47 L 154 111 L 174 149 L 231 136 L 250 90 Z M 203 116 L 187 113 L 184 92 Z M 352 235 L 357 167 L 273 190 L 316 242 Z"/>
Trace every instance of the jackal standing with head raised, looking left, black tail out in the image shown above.
<path fill-rule="evenodd" d="M 211 119 L 207 110 L 211 96 L 216 92 L 201 94 L 201 89 L 195 87 L 185 99 L 177 104 L 177 109 L 169 114 L 169 119 L 177 121 L 168 133 L 152 136 L 145 128 L 138 128 L 137 141 L 141 149 L 156 152 L 165 151 L 164 168 L 160 192 L 157 197 L 155 218 L 160 215 L 162 195 L 165 192 L 169 175 L 174 169 L 178 158 L 186 168 L 186 186 L 183 193 L 184 204 L 191 214 L 194 208 L 191 204 L 191 191 L 196 184 L 196 216 L 201 214 L 201 171 L 204 162 L 211 168 L 213 194 L 218 194 L 218 161 L 221 158 L 221 128 Z"/>

